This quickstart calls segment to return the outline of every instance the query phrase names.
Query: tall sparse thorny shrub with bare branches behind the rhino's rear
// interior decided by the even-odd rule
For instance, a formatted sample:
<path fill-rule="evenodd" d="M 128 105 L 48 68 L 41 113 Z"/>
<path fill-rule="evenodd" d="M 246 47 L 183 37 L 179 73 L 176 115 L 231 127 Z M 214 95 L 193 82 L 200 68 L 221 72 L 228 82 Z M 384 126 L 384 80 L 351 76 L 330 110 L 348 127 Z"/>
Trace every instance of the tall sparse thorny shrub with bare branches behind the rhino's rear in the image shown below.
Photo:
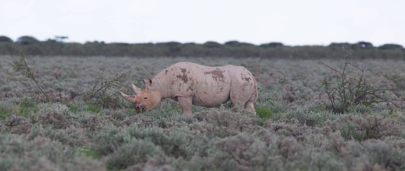
<path fill-rule="evenodd" d="M 367 48 L 369 45 L 367 42 L 359 42 L 359 44 L 366 44 L 364 48 Z M 371 45 L 372 46 L 372 45 Z M 327 78 L 324 78 L 321 81 L 321 85 L 318 87 L 318 91 L 320 90 L 320 95 L 326 95 L 328 98 L 328 102 L 332 105 L 333 110 L 336 113 L 343 113 L 347 111 L 347 108 L 350 106 L 356 105 L 364 105 L 368 107 L 373 107 L 377 103 L 386 103 L 394 104 L 391 100 L 386 97 L 386 92 L 393 92 L 394 89 L 391 88 L 389 85 L 382 85 L 380 87 L 374 87 L 369 83 L 368 79 L 364 77 L 364 69 L 363 67 L 358 67 L 357 63 L 353 63 L 352 60 L 348 58 L 351 53 L 345 50 L 342 47 L 345 56 L 345 62 L 343 65 L 343 69 L 339 70 L 333 67 L 330 67 L 327 64 L 319 63 L 321 65 L 325 65 L 333 73 L 337 73 L 338 79 L 336 79 L 336 83 L 333 84 Z M 361 74 L 356 76 L 347 75 L 349 71 L 347 71 L 348 67 L 353 67 L 354 69 L 358 69 Z M 396 106 L 396 104 L 394 104 Z"/>

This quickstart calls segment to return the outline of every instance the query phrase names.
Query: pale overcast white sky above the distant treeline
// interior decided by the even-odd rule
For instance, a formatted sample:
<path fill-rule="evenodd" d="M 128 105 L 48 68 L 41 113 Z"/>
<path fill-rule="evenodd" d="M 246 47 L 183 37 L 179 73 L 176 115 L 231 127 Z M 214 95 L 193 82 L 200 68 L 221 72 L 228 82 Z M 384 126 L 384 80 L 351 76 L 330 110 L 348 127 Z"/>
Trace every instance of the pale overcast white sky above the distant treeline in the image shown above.
<path fill-rule="evenodd" d="M 68 42 L 405 45 L 405 0 L 0 0 L 0 35 Z"/>

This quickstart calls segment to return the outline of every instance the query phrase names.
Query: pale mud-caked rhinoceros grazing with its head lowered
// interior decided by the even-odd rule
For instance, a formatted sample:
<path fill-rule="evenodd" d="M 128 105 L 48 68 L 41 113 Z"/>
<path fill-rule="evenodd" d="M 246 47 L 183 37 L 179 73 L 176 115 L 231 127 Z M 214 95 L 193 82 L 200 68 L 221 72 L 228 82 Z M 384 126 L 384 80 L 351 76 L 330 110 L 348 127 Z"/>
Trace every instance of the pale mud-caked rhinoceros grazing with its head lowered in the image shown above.
<path fill-rule="evenodd" d="M 215 107 L 231 100 L 256 115 L 256 79 L 245 67 L 225 65 L 208 67 L 181 62 L 167 67 L 153 79 L 144 79 L 145 89 L 132 88 L 136 95 L 121 96 L 135 104 L 137 112 L 151 111 L 166 98 L 179 102 L 183 113 L 192 115 L 192 104 Z"/>

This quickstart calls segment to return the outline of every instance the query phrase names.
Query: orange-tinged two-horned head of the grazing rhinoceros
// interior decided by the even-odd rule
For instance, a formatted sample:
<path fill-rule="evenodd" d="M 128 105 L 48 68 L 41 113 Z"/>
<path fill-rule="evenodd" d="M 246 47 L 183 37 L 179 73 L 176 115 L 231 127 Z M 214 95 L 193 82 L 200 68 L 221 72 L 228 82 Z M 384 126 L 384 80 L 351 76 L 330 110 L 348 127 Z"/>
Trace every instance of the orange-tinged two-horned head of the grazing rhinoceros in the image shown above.
<path fill-rule="evenodd" d="M 119 91 L 122 97 L 135 104 L 137 112 L 142 111 L 142 113 L 156 108 L 162 100 L 162 94 L 156 89 L 156 85 L 152 83 L 152 80 L 147 77 L 143 81 L 145 81 L 145 89 L 138 88 L 132 83 L 136 95 L 126 95 Z"/>

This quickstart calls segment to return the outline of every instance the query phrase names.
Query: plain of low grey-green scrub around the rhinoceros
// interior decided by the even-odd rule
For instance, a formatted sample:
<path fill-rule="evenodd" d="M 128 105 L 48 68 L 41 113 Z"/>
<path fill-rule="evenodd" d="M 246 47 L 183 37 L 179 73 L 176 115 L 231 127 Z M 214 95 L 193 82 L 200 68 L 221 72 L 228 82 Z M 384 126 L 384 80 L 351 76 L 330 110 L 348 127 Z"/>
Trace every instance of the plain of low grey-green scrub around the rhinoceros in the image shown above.
<path fill-rule="evenodd" d="M 334 113 L 316 92 L 337 75 L 319 60 L 262 58 L 27 57 L 53 102 L 25 72 L 0 63 L 1 170 L 403 170 L 405 111 L 385 104 L 352 106 Z M 15 60 L 0 56 L 0 60 Z M 89 103 L 84 94 L 104 70 L 112 79 L 134 67 L 107 93 L 126 90 L 171 64 L 240 65 L 258 82 L 257 116 L 232 106 L 193 106 L 181 113 L 173 100 L 136 113 L 119 98 L 116 108 Z M 343 58 L 322 60 L 341 67 Z M 405 103 L 405 61 L 367 60 L 364 77 L 398 91 Z M 351 70 L 350 74 L 360 74 Z"/>

